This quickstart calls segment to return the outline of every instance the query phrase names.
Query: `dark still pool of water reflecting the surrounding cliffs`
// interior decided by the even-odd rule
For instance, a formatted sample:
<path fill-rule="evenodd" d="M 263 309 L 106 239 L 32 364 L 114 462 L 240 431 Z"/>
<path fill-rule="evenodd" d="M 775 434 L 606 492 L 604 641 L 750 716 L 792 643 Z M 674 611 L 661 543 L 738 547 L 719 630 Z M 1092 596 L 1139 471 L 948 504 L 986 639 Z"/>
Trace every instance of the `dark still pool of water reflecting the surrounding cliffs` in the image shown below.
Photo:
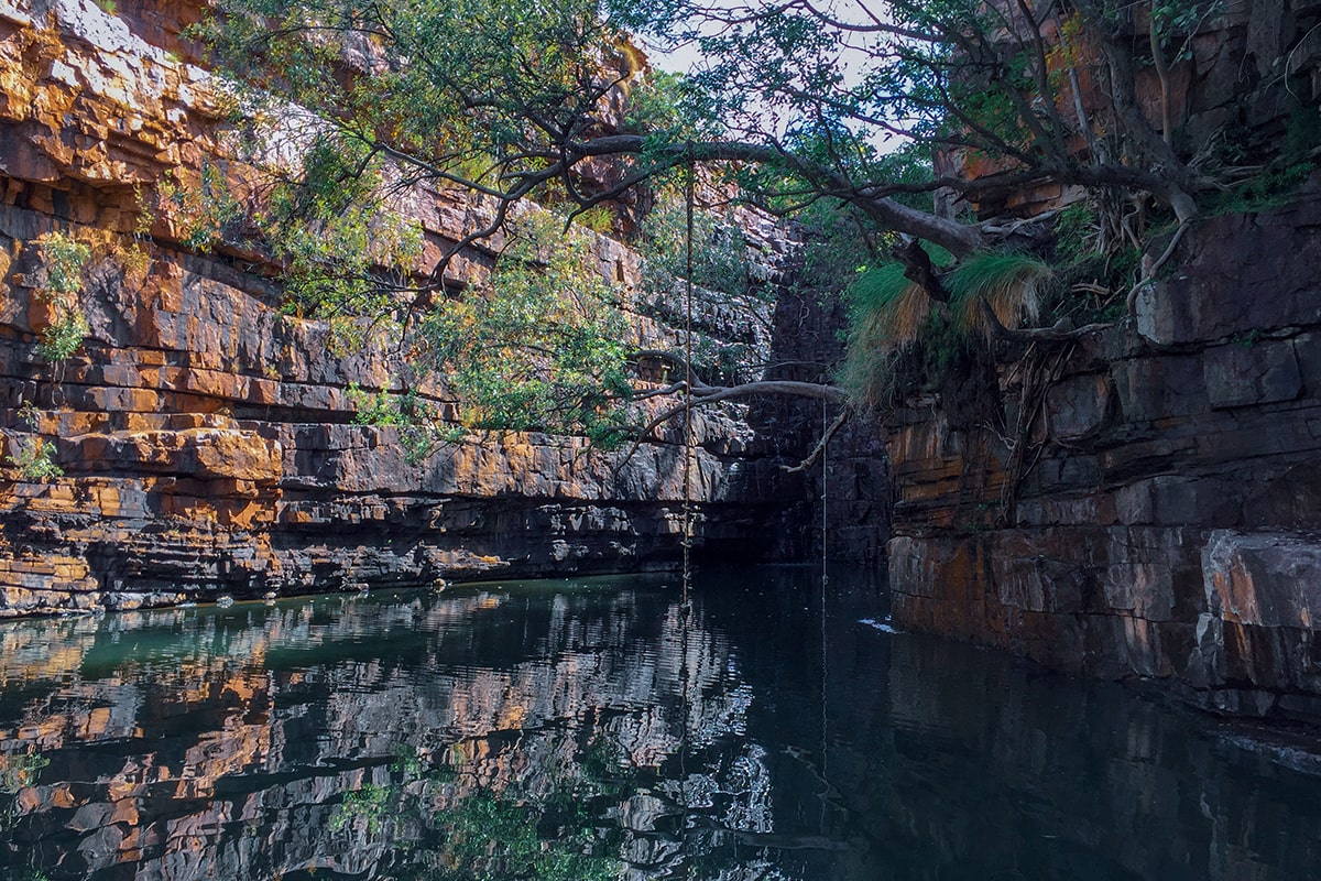
<path fill-rule="evenodd" d="M 0 625 L 7 877 L 1321 877 L 1321 777 L 803 569 Z"/>

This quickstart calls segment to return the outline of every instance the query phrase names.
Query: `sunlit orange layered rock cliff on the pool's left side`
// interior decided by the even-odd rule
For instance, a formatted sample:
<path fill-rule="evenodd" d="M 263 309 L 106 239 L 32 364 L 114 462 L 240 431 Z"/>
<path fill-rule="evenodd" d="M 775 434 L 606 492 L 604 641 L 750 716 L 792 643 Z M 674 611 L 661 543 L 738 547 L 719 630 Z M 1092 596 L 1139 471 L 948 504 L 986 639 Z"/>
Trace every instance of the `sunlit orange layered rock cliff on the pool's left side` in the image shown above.
<path fill-rule="evenodd" d="M 197 16 L 149 0 L 0 1 L 0 616 L 671 564 L 676 431 L 626 461 L 511 435 L 412 462 L 396 429 L 353 424 L 351 386 L 403 390 L 398 353 L 336 354 L 325 324 L 279 309 L 251 255 L 199 254 L 168 205 L 144 211 L 168 173 L 222 148 L 223 102 L 178 36 Z M 432 254 L 482 211 L 453 193 L 415 206 Z M 59 362 L 38 347 L 58 316 L 34 244 L 57 231 L 91 243 L 75 304 L 86 339 Z M 749 235 L 768 265 L 783 256 L 769 223 Z M 594 248 L 604 273 L 637 287 L 627 247 Z M 489 264 L 470 250 L 454 272 Z M 664 306 L 637 299 L 639 339 L 674 338 Z M 756 317 L 700 318 L 769 345 Z M 801 495 L 779 477 L 794 450 L 742 413 L 696 427 L 701 542 L 727 557 L 774 546 Z"/>

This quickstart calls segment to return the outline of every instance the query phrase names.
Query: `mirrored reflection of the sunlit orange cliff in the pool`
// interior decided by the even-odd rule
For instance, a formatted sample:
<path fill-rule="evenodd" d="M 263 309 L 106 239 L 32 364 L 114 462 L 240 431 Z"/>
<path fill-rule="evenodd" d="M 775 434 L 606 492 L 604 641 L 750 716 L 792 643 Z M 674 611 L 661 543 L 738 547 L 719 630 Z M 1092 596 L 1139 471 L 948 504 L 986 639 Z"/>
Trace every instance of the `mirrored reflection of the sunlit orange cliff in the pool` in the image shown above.
<path fill-rule="evenodd" d="M 684 738 L 741 729 L 749 700 L 727 639 L 655 590 L 45 619 L 7 625 L 0 647 L 4 752 L 49 761 L 12 787 L 8 860 L 41 841 L 55 861 L 33 868 L 52 878 L 119 863 L 144 880 L 370 874 L 427 833 L 408 787 L 433 811 L 547 799 L 601 756 L 608 777 L 655 782 Z M 672 808 L 620 795 L 639 833 Z M 365 806 L 398 816 L 357 822 Z"/>

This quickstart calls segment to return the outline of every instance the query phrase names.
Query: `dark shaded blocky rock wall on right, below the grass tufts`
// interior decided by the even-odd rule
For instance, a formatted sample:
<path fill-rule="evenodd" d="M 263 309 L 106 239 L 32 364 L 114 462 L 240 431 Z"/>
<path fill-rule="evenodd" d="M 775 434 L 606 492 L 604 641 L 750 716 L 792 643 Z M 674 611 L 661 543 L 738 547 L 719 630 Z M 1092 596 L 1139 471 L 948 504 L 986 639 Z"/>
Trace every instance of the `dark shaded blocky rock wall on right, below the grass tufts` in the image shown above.
<path fill-rule="evenodd" d="M 1024 431 L 901 413 L 896 619 L 1321 719 L 1317 265 L 1314 193 L 1213 218 L 1133 322 L 1001 370 Z"/>

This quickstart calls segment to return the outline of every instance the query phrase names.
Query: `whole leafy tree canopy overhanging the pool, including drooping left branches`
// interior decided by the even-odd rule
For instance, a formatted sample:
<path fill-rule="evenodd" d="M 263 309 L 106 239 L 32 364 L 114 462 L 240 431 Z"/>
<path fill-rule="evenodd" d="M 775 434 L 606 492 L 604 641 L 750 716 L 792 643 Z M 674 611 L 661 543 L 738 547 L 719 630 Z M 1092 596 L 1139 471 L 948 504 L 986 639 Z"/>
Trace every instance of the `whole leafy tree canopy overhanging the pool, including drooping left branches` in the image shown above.
<path fill-rule="evenodd" d="M 604 342 L 618 338 L 609 285 L 531 259 L 515 234 L 487 293 L 445 289 L 449 260 L 507 232 L 520 201 L 592 222 L 675 169 L 724 169 L 766 210 L 851 211 L 873 252 L 892 250 L 904 277 L 947 301 L 948 267 L 934 254 L 956 263 L 1046 238 L 983 217 L 1007 193 L 1042 182 L 1092 193 L 1107 251 L 1140 244 L 1124 205 L 1182 229 L 1225 186 L 1205 145 L 1181 141 L 1169 92 L 1170 67 L 1221 13 L 1222 0 L 219 0 L 205 32 L 240 86 L 244 119 L 258 120 L 252 155 L 283 174 L 248 222 L 303 301 L 325 313 L 400 305 L 373 302 L 370 291 L 407 292 L 410 309 L 439 297 L 416 325 L 421 349 L 473 394 L 490 371 L 461 363 L 503 351 L 476 330 L 494 320 L 540 351 L 503 351 L 502 365 L 528 382 L 557 379 L 553 390 L 542 379 L 501 386 L 473 424 L 548 427 L 530 402 L 553 400 L 571 421 L 614 436 L 604 413 L 627 383 L 625 353 Z M 641 77 L 630 34 L 696 45 L 705 63 L 688 78 Z M 1159 114 L 1140 99 L 1148 71 Z M 277 125 L 262 131 L 262 119 Z M 613 173 L 601 173 L 606 160 Z M 951 170 L 960 162 L 982 173 Z M 436 265 L 420 263 L 416 235 L 380 221 L 417 184 L 465 188 L 486 209 Z M 371 199 L 374 211 L 355 207 Z M 396 276 L 382 273 L 390 264 Z M 596 305 L 552 288 L 589 292 Z M 491 300 L 497 289 L 505 301 Z M 1011 312 L 999 302 L 980 314 L 1004 332 Z"/>

